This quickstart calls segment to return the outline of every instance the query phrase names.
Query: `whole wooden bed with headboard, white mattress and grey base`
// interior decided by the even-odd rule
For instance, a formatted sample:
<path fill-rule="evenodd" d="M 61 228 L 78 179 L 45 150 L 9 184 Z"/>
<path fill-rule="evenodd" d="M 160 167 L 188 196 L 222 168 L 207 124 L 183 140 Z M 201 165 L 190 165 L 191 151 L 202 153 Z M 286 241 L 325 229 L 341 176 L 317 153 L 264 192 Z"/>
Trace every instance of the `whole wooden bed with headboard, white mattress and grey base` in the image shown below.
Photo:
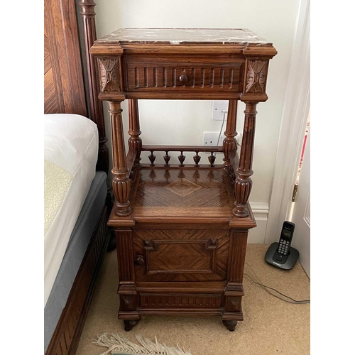
<path fill-rule="evenodd" d="M 77 5 L 83 21 L 77 21 Z M 109 154 L 96 67 L 89 55 L 96 39 L 93 9 L 92 0 L 78 4 L 45 0 L 44 351 L 48 355 L 75 354 L 110 240 Z"/>

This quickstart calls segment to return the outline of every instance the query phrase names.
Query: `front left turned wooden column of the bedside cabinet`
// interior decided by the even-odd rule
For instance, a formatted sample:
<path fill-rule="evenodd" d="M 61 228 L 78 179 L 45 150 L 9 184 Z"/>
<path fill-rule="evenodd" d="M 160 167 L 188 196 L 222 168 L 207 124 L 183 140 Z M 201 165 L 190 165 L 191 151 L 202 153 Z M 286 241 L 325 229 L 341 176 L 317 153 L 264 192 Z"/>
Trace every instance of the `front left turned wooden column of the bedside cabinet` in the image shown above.
<path fill-rule="evenodd" d="M 114 179 L 112 190 L 116 198 L 116 215 L 119 217 L 131 214 L 129 207 L 129 193 L 131 192 L 131 181 L 127 176 L 126 151 L 124 148 L 124 131 L 122 126 L 121 102 L 109 102 L 109 113 L 111 115 L 112 134 L 112 156 Z"/>

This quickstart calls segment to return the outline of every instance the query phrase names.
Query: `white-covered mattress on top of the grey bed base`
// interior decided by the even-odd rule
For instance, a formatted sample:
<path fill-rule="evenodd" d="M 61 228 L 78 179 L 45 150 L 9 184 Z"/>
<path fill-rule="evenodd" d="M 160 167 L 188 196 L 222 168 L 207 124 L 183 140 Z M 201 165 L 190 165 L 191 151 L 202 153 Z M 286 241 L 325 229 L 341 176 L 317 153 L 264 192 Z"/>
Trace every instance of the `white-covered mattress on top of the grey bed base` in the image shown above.
<path fill-rule="evenodd" d="M 95 175 L 97 125 L 76 114 L 44 115 L 44 305 Z"/>

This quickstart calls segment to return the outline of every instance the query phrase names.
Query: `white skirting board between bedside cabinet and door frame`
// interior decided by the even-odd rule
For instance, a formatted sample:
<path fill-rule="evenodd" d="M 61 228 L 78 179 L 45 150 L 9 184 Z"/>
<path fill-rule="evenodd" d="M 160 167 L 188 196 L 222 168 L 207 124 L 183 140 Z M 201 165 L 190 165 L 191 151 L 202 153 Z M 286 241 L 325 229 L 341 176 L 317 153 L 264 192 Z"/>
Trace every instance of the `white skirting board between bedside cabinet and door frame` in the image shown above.
<path fill-rule="evenodd" d="M 249 229 L 248 243 L 265 244 L 266 225 L 268 224 L 268 203 L 267 202 L 250 202 L 253 211 L 256 228 Z"/>

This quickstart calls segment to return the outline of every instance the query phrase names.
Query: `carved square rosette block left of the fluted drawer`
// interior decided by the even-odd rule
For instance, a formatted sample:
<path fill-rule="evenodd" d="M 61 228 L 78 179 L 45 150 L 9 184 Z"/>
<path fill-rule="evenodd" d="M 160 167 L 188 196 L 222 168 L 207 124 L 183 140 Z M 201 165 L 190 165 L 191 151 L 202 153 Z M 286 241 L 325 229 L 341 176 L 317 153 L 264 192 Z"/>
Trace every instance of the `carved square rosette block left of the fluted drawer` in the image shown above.
<path fill-rule="evenodd" d="M 119 84 L 119 60 L 99 59 L 102 92 L 121 92 Z"/>

